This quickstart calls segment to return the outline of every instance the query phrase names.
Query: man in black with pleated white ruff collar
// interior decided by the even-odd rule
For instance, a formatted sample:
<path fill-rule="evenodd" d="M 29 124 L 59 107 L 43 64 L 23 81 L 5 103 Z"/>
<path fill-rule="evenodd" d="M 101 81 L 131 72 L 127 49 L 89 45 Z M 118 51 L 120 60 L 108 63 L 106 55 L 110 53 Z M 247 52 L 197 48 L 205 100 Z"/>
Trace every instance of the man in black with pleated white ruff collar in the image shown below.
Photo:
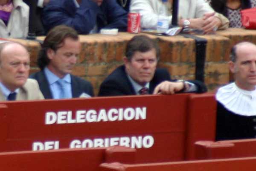
<path fill-rule="evenodd" d="M 216 140 L 256 138 L 256 45 L 236 44 L 229 68 L 235 82 L 216 93 Z"/>

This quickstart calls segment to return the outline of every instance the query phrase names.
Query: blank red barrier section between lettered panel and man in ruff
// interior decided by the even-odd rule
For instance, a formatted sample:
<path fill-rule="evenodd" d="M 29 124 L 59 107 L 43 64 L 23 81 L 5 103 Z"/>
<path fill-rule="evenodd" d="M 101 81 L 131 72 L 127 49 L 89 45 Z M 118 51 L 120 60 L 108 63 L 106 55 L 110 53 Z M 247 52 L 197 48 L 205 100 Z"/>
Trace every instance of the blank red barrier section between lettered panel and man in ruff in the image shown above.
<path fill-rule="evenodd" d="M 216 105 L 213 93 L 192 94 L 189 97 L 185 159 L 196 159 L 195 142 L 215 140 Z"/>

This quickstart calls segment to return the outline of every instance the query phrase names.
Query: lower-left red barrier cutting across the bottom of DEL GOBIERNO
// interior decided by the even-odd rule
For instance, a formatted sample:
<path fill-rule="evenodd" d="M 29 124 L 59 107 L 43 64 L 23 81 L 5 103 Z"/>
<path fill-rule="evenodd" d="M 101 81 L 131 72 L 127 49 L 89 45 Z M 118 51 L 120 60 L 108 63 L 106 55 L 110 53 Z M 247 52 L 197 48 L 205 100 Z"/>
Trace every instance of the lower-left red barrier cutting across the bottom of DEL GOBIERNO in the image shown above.
<path fill-rule="evenodd" d="M 110 156 L 110 152 L 116 155 Z M 124 147 L 6 152 L 0 153 L 0 171 L 98 171 L 108 159 L 131 163 L 121 155 L 132 159 L 135 152 Z"/>

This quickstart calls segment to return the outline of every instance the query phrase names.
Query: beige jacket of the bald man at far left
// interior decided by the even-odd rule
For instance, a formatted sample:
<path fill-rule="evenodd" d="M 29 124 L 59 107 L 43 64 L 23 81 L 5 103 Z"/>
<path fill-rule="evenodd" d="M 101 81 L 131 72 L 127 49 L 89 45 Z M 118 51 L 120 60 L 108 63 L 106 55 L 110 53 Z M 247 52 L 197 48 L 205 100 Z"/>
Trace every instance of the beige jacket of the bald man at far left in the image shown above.
<path fill-rule="evenodd" d="M 16 100 L 40 100 L 44 99 L 43 94 L 39 89 L 38 82 L 34 79 L 28 78 L 23 87 L 19 89 Z M 6 101 L 5 96 L 0 91 L 0 101 Z"/>

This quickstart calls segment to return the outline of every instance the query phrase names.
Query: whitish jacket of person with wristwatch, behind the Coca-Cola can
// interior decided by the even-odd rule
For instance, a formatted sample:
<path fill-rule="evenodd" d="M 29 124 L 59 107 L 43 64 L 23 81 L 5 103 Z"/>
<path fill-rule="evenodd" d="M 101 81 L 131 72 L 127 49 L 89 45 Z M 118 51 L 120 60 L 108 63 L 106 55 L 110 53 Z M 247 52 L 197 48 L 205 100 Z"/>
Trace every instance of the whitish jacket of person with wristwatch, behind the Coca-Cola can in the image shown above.
<path fill-rule="evenodd" d="M 157 17 L 160 13 L 160 8 L 163 6 L 161 0 L 131 0 L 130 12 L 141 14 L 141 26 L 146 29 L 156 29 Z M 214 12 L 205 0 L 179 0 L 179 17 L 184 19 L 203 17 L 205 13 Z M 168 14 L 169 23 L 172 21 L 171 11 Z M 229 25 L 229 20 L 224 15 L 216 13 L 216 17 L 221 19 L 221 27 L 226 29 Z"/>

